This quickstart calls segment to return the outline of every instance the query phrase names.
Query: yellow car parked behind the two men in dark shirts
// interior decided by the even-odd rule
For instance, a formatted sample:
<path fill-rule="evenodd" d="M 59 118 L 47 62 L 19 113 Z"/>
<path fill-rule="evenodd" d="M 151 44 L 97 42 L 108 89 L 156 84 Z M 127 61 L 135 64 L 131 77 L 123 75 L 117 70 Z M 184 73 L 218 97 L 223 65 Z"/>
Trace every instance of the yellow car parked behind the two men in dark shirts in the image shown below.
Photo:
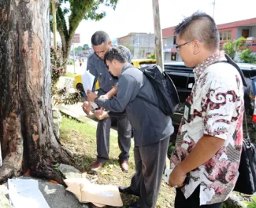
<path fill-rule="evenodd" d="M 132 60 L 132 65 L 134 65 L 135 68 L 143 68 L 143 67 L 147 67 L 147 66 L 154 65 L 154 64 L 156 64 L 156 60 L 154 60 L 154 59 Z M 81 95 L 84 93 L 81 75 L 75 76 L 74 88 L 79 89 L 81 92 Z M 95 90 L 97 90 L 97 89 L 99 89 L 98 81 L 95 84 Z"/>

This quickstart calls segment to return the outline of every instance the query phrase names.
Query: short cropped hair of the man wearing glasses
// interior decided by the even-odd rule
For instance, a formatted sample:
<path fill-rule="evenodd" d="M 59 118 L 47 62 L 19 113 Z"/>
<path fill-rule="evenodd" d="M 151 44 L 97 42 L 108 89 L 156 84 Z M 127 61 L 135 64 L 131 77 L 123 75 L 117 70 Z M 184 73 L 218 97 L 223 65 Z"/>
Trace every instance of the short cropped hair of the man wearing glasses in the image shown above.
<path fill-rule="evenodd" d="M 176 35 L 186 41 L 198 39 L 207 49 L 215 50 L 220 46 L 220 35 L 213 17 L 206 13 L 196 12 L 186 17 L 175 27 Z"/>

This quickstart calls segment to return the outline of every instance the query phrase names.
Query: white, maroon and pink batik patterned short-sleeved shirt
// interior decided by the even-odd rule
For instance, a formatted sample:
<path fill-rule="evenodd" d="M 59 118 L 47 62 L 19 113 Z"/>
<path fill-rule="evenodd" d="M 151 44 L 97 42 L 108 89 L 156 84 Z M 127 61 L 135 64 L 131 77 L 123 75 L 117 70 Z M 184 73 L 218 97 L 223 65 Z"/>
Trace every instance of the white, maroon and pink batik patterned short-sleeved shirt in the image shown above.
<path fill-rule="evenodd" d="M 188 173 L 190 182 L 181 188 L 188 198 L 200 185 L 200 205 L 221 203 L 227 199 L 239 175 L 243 143 L 243 82 L 239 71 L 231 64 L 215 63 L 225 60 L 222 55 L 214 53 L 194 69 L 195 85 L 187 98 L 190 111 L 181 120 L 171 158 L 171 167 L 174 168 L 190 154 L 203 135 L 224 140 L 224 145 L 212 159 Z"/>

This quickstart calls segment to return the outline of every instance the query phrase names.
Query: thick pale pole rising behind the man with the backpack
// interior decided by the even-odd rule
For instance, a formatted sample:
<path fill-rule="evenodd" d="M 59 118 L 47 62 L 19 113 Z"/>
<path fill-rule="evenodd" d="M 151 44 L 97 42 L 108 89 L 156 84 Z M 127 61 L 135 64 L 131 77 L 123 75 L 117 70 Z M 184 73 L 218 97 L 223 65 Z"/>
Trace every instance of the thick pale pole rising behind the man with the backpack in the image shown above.
<path fill-rule="evenodd" d="M 155 42 L 155 54 L 157 64 L 164 71 L 164 59 L 163 59 L 163 43 L 161 35 L 160 13 L 159 13 L 159 1 L 152 0 L 153 3 L 153 16 L 154 16 L 154 42 Z"/>

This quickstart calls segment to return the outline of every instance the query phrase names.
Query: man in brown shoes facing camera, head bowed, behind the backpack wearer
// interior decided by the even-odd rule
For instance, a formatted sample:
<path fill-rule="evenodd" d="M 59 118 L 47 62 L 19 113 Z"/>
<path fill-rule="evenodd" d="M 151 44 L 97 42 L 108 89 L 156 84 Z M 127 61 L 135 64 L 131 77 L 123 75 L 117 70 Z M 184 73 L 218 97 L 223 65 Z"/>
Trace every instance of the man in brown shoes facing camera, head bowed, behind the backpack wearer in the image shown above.
<path fill-rule="evenodd" d="M 109 39 L 109 35 L 105 31 L 96 31 L 91 37 L 91 45 L 95 53 L 92 53 L 87 60 L 87 71 L 90 71 L 92 75 L 95 76 L 95 82 L 99 81 L 98 96 L 103 96 L 106 98 L 113 97 L 117 93 L 117 81 L 118 78 L 111 75 L 108 68 L 104 62 L 104 55 L 108 51 L 112 43 Z M 131 53 L 129 49 L 122 46 L 131 61 Z M 83 110 L 90 113 L 91 106 L 88 102 L 83 104 Z M 119 161 L 121 169 L 124 172 L 128 172 L 128 159 L 129 150 L 131 148 L 131 136 L 132 127 L 130 122 L 128 122 L 127 115 L 125 111 L 120 113 L 115 113 L 112 111 L 95 111 L 96 117 L 99 119 L 97 126 L 97 161 L 91 166 L 92 170 L 100 169 L 106 160 L 109 159 L 109 133 L 111 127 L 111 120 L 117 120 L 117 132 L 118 132 L 118 144 L 121 149 L 121 154 L 119 155 Z"/>

